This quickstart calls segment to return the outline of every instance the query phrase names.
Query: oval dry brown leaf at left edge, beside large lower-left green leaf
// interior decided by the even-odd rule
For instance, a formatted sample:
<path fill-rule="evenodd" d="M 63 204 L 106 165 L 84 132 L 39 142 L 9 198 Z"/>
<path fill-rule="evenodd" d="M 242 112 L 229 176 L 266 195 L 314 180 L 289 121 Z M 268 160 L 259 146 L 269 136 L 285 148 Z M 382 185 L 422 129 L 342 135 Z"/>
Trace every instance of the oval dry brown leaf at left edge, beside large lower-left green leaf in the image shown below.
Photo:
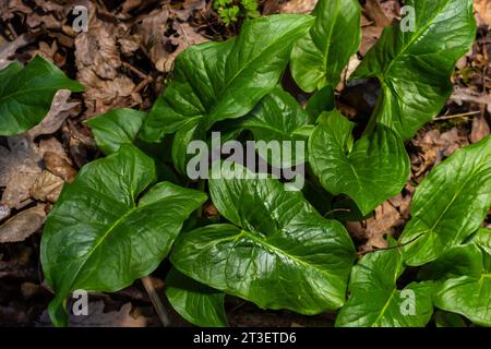
<path fill-rule="evenodd" d="M 20 242 L 40 229 L 46 220 L 44 204 L 16 214 L 0 226 L 0 242 Z"/>

